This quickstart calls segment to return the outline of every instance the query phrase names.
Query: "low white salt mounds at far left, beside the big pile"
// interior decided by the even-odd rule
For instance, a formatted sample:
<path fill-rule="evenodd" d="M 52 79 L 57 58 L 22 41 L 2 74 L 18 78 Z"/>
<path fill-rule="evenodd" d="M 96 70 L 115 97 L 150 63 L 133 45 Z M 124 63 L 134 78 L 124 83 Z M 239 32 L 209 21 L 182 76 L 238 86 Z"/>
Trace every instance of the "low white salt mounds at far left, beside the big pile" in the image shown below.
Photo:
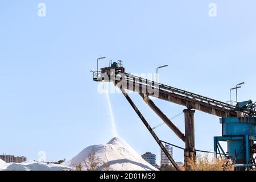
<path fill-rule="evenodd" d="M 38 162 L 5 163 L 0 164 L 0 171 L 68 171 L 71 168 L 58 164 L 45 164 Z"/>

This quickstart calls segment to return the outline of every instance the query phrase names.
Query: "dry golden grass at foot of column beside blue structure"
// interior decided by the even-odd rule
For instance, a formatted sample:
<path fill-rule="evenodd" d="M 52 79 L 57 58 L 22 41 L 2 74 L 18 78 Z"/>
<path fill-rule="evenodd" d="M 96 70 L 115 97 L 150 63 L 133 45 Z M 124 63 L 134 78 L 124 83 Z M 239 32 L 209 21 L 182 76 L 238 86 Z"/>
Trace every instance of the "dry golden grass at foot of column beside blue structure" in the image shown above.
<path fill-rule="evenodd" d="M 234 171 L 232 161 L 229 159 L 214 159 L 209 155 L 198 155 L 196 161 L 196 164 L 189 162 L 191 171 Z M 185 171 L 185 167 L 181 167 L 181 170 Z"/>

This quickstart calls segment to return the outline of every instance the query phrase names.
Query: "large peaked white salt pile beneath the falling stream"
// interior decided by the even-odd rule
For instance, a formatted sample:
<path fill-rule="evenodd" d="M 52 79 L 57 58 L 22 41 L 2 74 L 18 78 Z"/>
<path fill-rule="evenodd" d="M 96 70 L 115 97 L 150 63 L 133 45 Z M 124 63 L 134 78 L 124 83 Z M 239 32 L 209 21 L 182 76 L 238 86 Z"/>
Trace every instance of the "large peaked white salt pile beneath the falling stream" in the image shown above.
<path fill-rule="evenodd" d="M 91 168 L 90 166 L 93 162 L 97 163 L 97 170 L 102 171 L 158 170 L 142 159 L 142 157 L 121 138 L 113 138 L 107 144 L 86 147 L 73 159 L 61 164 L 71 168 L 75 168 L 81 164 L 82 169 L 86 170 Z"/>

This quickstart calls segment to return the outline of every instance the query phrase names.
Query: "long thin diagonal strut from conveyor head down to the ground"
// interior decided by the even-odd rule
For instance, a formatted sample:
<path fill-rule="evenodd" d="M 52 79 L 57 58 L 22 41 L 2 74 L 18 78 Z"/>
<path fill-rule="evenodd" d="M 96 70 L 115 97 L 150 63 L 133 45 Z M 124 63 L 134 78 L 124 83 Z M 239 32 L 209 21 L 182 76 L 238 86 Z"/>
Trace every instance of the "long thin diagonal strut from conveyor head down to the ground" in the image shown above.
<path fill-rule="evenodd" d="M 120 88 L 121 89 L 121 88 Z M 163 143 L 161 142 L 161 140 L 158 138 L 158 136 L 155 134 L 155 132 L 153 131 L 153 129 L 151 128 L 151 126 L 148 124 L 148 122 L 146 121 L 146 119 L 143 117 L 141 111 L 139 111 L 139 109 L 137 108 L 137 106 L 134 104 L 134 102 L 131 100 L 131 98 L 129 97 L 129 95 L 126 93 L 125 90 L 121 89 L 123 96 L 125 96 L 125 98 L 127 99 L 127 101 L 130 103 L 131 107 L 133 107 L 133 109 L 135 110 L 135 112 L 138 114 L 139 118 L 141 118 L 142 122 L 144 123 L 144 125 L 147 127 L 148 131 L 150 131 L 152 137 L 154 137 L 154 139 L 156 140 L 156 142 L 159 144 L 160 148 L 163 150 L 164 154 L 166 154 L 167 158 L 170 160 L 170 162 L 172 163 L 172 165 L 175 167 L 175 169 L 177 171 L 180 171 L 180 168 L 177 166 L 176 162 L 174 161 L 174 159 L 172 158 L 172 156 L 169 154 L 169 152 L 166 150 L 166 147 L 164 147 Z"/>

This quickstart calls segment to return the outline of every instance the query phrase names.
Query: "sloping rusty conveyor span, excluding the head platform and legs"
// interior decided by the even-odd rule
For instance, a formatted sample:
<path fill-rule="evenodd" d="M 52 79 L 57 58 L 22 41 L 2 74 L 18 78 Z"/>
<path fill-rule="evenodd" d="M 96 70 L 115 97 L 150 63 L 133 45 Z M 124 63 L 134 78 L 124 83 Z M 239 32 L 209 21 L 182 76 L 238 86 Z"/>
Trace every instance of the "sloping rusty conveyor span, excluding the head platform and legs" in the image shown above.
<path fill-rule="evenodd" d="M 213 100 L 172 86 L 159 84 L 155 81 L 130 75 L 129 73 L 116 72 L 115 74 L 115 85 L 122 86 L 123 89 L 132 90 L 139 94 L 147 94 L 147 96 L 157 97 L 161 100 L 173 102 L 189 109 L 196 109 L 218 117 L 237 117 L 236 106 L 226 104 L 225 102 Z M 132 84 L 129 84 L 131 82 Z M 155 94 L 156 90 L 159 94 Z M 244 114 L 248 113 L 245 112 Z"/>

